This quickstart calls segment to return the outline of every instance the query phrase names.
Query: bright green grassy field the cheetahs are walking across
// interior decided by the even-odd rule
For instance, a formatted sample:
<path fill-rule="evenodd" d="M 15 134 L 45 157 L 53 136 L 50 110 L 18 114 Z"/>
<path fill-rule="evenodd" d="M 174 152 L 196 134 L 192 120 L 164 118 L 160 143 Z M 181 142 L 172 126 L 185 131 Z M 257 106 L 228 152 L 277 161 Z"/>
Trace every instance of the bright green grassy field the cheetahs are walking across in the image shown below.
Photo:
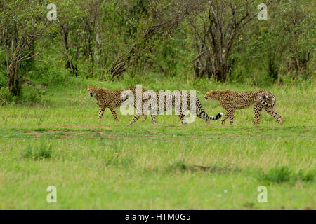
<path fill-rule="evenodd" d="M 119 109 L 121 122 L 109 110 L 99 121 L 86 93 L 94 83 L 48 87 L 40 104 L 0 107 L 0 209 L 315 209 L 315 83 L 265 87 L 282 127 L 265 112 L 253 127 L 251 108 L 237 111 L 232 127 L 198 118 L 181 125 L 177 116 L 130 127 Z M 210 115 L 225 111 L 203 99 L 206 90 L 257 89 L 169 87 L 199 90 Z M 57 203 L 46 202 L 48 186 Z M 267 203 L 257 201 L 258 186 L 267 187 Z"/>

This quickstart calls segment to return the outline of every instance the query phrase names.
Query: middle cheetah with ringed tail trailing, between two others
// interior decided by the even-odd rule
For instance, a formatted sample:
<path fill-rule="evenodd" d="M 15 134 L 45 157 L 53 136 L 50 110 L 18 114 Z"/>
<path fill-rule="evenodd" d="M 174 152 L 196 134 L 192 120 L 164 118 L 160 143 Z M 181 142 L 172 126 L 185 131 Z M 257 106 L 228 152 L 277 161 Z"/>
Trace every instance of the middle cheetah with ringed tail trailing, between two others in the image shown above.
<path fill-rule="evenodd" d="M 141 101 L 142 106 L 144 106 L 145 103 L 147 103 L 150 99 L 144 99 L 146 97 L 143 97 L 144 92 L 152 92 L 154 93 L 154 95 L 156 96 L 156 108 L 151 108 L 151 105 L 149 105 L 147 107 L 147 109 L 150 111 L 150 115 L 152 116 L 152 122 L 154 124 L 157 124 L 157 118 L 156 115 L 157 113 L 159 113 L 159 111 L 167 111 L 169 109 L 172 109 L 172 107 L 175 108 L 176 110 L 176 114 L 178 115 L 178 117 L 181 120 L 181 123 L 183 125 L 185 125 L 187 122 L 185 121 L 185 112 L 186 110 L 184 109 L 185 106 L 188 110 L 190 110 L 190 112 L 195 112 L 195 115 L 199 118 L 202 118 L 206 123 L 209 124 L 209 120 L 218 120 L 221 116 L 223 116 L 223 113 L 218 113 L 216 116 L 209 116 L 203 109 L 201 102 L 199 102 L 199 99 L 197 97 L 195 97 L 195 95 L 189 94 L 185 91 L 182 92 L 178 92 L 178 94 L 166 94 L 166 95 L 159 95 L 159 93 L 154 92 L 153 90 L 144 90 L 142 91 L 142 94 L 138 97 L 141 97 L 141 99 L 139 99 L 139 101 Z M 164 97 L 162 99 L 160 99 L 160 97 Z M 172 97 L 172 98 L 171 98 Z M 185 97 L 187 104 L 185 106 L 183 106 L 183 101 L 185 100 L 183 97 Z M 191 108 L 191 99 L 193 99 L 194 97 L 194 101 L 192 102 L 192 108 Z M 137 99 L 137 97 L 136 97 Z M 184 100 L 182 100 L 184 99 Z M 180 102 L 176 102 L 180 100 Z M 162 108 L 159 108 L 159 106 L 161 105 L 160 103 L 163 102 L 163 106 Z M 195 105 L 194 105 L 195 102 Z M 134 102 L 134 107 L 137 108 L 136 106 L 136 102 Z M 195 108 L 195 111 L 193 111 L 193 107 Z M 138 120 L 138 118 L 140 118 L 140 115 L 142 113 L 136 113 L 136 115 L 133 117 L 133 119 L 130 122 L 130 125 L 133 125 L 133 123 L 136 122 L 136 120 Z"/>

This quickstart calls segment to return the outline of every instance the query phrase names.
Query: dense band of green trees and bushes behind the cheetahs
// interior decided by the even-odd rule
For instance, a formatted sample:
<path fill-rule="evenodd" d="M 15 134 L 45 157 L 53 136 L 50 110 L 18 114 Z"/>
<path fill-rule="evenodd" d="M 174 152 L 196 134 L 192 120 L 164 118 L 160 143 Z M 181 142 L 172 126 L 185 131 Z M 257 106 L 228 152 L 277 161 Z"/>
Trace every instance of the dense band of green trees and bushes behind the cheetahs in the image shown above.
<path fill-rule="evenodd" d="M 1 0 L 1 100 L 70 76 L 298 82 L 315 76 L 314 22 L 308 0 Z"/>

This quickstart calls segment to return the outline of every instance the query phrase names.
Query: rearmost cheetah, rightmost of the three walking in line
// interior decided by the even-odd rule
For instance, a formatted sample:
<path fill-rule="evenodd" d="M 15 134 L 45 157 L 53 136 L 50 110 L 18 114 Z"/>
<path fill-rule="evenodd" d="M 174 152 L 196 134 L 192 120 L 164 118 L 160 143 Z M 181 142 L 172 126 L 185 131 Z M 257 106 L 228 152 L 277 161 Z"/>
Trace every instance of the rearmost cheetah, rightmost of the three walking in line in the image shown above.
<path fill-rule="evenodd" d="M 225 120 L 230 118 L 230 125 L 234 123 L 235 110 L 245 109 L 254 105 L 254 125 L 260 123 L 261 111 L 265 109 L 273 118 L 277 120 L 279 125 L 283 124 L 282 116 L 273 108 L 276 103 L 275 95 L 266 90 L 255 90 L 246 92 L 237 92 L 235 90 L 210 90 L 206 92 L 205 99 L 218 100 L 220 106 L 226 111 L 226 115 L 221 120 L 221 124 L 225 125 Z"/>

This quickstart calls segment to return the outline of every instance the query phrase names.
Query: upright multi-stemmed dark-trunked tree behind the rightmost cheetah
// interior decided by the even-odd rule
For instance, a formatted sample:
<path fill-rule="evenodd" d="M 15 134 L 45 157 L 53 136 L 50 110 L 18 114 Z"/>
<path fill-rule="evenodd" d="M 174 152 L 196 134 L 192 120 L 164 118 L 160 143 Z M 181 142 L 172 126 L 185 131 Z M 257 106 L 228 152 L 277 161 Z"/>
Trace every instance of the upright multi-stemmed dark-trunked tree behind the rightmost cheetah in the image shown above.
<path fill-rule="evenodd" d="M 228 79 L 234 43 L 246 25 L 257 17 L 260 3 L 262 1 L 256 0 L 205 1 L 201 10 L 192 15 L 189 22 L 196 39 L 197 56 L 193 66 L 197 77 Z"/>

